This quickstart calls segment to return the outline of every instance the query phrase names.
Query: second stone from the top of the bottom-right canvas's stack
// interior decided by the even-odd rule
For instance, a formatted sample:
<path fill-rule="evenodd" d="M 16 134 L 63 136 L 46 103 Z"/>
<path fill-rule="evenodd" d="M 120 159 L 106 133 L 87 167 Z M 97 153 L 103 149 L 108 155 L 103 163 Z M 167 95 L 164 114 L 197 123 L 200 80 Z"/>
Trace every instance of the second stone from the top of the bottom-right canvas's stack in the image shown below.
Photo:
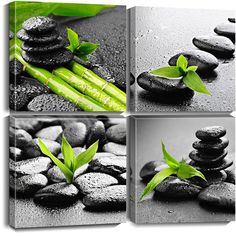
<path fill-rule="evenodd" d="M 193 148 L 202 153 L 220 153 L 229 145 L 229 140 L 222 137 L 216 141 L 195 141 Z"/>

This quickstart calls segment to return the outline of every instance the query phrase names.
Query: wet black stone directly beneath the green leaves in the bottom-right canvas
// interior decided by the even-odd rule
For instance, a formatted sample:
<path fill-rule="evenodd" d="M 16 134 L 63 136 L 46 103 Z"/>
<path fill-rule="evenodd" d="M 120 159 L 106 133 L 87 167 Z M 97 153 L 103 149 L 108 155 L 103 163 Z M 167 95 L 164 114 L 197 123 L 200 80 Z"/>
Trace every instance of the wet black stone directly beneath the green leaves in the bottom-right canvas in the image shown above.
<path fill-rule="evenodd" d="M 192 184 L 190 181 L 173 176 L 168 177 L 155 188 L 157 197 L 172 199 L 193 198 L 198 195 L 200 190 L 201 187 Z"/>

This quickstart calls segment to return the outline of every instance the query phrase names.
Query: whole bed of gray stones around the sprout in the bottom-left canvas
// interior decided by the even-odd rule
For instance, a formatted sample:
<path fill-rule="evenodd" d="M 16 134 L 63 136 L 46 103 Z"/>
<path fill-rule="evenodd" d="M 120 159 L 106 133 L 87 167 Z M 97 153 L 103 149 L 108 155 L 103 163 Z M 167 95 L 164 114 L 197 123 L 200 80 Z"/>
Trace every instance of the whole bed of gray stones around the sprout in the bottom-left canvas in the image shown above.
<path fill-rule="evenodd" d="M 38 138 L 59 160 L 64 133 L 75 155 L 99 139 L 92 161 L 77 169 L 72 184 L 51 159 L 41 153 Z M 118 211 L 126 207 L 125 119 L 10 119 L 10 195 L 33 199 L 47 207 L 68 207 L 81 201 L 92 211 Z"/>

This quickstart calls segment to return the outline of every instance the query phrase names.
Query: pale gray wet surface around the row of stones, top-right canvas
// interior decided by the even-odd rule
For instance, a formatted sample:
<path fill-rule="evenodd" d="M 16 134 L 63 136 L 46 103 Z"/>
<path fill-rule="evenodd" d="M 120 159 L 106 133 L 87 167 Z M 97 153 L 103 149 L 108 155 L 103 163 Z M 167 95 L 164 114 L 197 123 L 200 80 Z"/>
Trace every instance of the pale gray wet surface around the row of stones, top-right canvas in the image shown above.
<path fill-rule="evenodd" d="M 131 32 L 136 58 L 131 58 L 131 72 L 137 78 L 144 71 L 168 65 L 168 60 L 176 52 L 196 49 L 192 44 L 193 37 L 215 35 L 214 28 L 233 15 L 232 11 L 136 8 L 135 32 Z M 219 58 L 219 62 L 213 73 L 201 75 L 212 96 L 195 93 L 188 101 L 160 102 L 134 84 L 131 87 L 131 108 L 137 112 L 233 111 L 234 55 Z"/>

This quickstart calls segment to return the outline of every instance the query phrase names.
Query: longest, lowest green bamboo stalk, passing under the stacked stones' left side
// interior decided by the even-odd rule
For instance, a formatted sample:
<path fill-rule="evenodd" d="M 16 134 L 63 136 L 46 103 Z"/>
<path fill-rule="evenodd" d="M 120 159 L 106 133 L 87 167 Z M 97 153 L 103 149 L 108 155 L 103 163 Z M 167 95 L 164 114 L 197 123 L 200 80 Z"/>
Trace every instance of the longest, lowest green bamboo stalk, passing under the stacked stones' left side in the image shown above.
<path fill-rule="evenodd" d="M 108 111 L 92 98 L 81 94 L 76 89 L 72 88 L 61 78 L 53 75 L 43 68 L 38 68 L 27 63 L 17 51 L 15 51 L 15 58 L 23 64 L 25 71 L 30 76 L 48 86 L 55 94 L 76 104 L 84 111 Z"/>

